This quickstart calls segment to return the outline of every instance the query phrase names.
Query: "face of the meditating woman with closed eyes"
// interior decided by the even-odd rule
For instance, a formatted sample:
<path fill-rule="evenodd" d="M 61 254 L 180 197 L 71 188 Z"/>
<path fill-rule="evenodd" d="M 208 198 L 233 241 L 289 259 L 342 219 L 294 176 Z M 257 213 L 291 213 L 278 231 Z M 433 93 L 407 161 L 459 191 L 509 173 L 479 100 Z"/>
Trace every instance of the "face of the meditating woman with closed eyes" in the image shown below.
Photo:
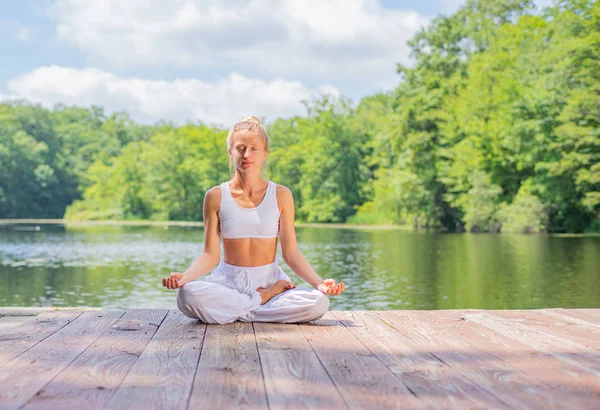
<path fill-rule="evenodd" d="M 239 172 L 260 171 L 267 158 L 265 140 L 255 131 L 239 131 L 232 138 L 229 155 Z"/>

